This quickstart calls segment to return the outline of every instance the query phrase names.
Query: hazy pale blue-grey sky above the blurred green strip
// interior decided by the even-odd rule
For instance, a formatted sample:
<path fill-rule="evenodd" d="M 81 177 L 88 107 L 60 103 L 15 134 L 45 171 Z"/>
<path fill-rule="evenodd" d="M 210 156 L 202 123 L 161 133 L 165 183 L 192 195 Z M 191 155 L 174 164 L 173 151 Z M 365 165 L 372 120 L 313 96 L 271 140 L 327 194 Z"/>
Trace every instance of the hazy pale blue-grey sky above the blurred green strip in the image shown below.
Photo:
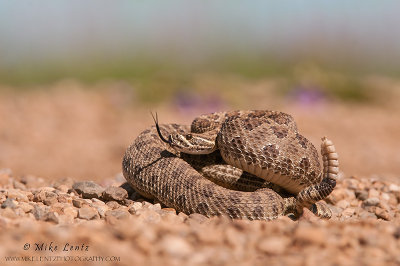
<path fill-rule="evenodd" d="M 400 65 L 400 1 L 0 0 L 0 66 L 226 51 Z"/>

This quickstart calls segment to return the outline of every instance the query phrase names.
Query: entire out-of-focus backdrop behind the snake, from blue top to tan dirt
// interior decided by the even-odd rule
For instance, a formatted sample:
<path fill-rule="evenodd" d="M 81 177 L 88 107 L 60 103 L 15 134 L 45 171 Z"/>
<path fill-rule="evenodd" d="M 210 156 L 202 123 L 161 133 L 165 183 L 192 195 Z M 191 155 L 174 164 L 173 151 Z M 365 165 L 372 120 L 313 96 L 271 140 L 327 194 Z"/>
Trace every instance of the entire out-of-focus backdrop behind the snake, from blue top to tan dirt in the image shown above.
<path fill-rule="evenodd" d="M 398 1 L 1 1 L 0 168 L 118 174 L 152 124 L 290 113 L 346 175 L 400 178 Z"/>

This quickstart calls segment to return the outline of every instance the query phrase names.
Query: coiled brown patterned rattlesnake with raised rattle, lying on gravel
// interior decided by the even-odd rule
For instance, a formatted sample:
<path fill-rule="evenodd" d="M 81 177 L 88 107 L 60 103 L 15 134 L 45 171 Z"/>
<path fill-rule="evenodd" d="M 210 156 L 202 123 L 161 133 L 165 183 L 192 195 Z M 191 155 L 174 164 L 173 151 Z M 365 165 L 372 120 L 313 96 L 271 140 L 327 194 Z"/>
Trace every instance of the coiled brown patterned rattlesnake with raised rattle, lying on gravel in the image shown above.
<path fill-rule="evenodd" d="M 202 115 L 191 126 L 156 125 L 136 138 L 122 162 L 126 180 L 144 197 L 208 217 L 271 220 L 298 217 L 304 207 L 331 216 L 318 201 L 336 185 L 335 148 L 322 138 L 321 169 L 290 115 L 231 111 Z"/>

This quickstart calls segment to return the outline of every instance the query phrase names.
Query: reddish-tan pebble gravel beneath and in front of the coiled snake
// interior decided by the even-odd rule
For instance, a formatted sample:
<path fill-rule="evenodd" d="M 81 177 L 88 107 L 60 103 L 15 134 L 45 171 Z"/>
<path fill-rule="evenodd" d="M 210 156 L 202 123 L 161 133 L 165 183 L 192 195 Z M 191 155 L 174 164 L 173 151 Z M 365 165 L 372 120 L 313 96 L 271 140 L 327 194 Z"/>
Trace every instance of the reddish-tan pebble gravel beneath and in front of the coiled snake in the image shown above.
<path fill-rule="evenodd" d="M 271 222 L 176 213 L 140 198 L 121 175 L 103 187 L 2 169 L 0 182 L 8 265 L 400 264 L 400 186 L 373 178 L 341 175 L 326 200 L 331 220 L 306 211 Z"/>

